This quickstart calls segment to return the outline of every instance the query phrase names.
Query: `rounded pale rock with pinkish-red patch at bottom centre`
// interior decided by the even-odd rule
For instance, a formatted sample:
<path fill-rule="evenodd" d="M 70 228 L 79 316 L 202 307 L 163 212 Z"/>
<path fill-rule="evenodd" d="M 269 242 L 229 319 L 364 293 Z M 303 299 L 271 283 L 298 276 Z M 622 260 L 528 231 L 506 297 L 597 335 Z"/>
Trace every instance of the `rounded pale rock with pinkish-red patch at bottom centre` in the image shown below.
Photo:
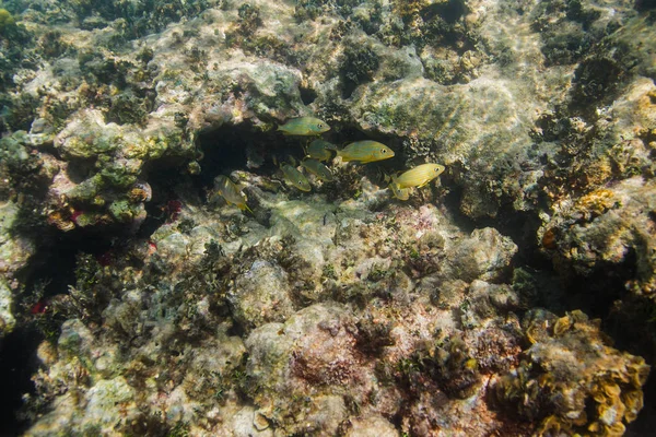
<path fill-rule="evenodd" d="M 251 332 L 246 340 L 246 371 L 254 387 L 249 394 L 269 421 L 288 433 L 337 430 L 345 409 L 341 397 L 329 394 L 364 383 L 358 375 L 354 328 L 349 319 L 343 307 L 320 304 L 296 312 L 284 324 L 265 324 Z M 313 386 L 328 395 L 313 394 L 306 401 Z M 300 406 L 302 411 L 290 414 Z M 330 414 L 318 414 L 327 408 Z"/>

